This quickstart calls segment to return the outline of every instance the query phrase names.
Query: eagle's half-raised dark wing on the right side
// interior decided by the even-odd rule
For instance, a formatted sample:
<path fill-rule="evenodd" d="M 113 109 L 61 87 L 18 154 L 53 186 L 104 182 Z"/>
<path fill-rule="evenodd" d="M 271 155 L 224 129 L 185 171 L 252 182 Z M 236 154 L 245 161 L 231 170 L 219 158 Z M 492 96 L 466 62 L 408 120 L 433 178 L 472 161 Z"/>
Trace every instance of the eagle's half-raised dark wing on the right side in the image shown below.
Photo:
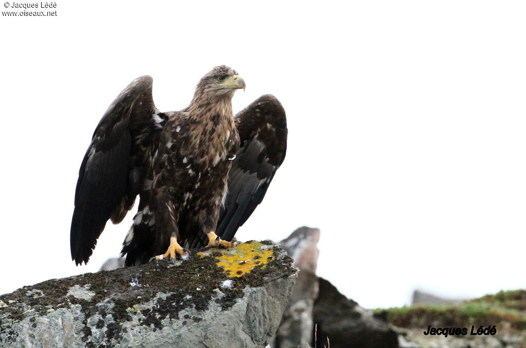
<path fill-rule="evenodd" d="M 228 193 L 216 234 L 232 240 L 261 203 L 285 159 L 287 120 L 276 97 L 267 94 L 236 115 L 241 147 L 228 174 Z"/>

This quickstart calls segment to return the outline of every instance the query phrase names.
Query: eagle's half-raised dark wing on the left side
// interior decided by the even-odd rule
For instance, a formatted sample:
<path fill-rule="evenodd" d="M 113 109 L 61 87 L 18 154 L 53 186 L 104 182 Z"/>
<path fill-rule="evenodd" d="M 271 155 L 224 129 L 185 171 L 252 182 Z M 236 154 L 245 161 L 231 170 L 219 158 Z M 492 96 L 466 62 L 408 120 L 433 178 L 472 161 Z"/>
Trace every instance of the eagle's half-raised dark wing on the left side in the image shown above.
<path fill-rule="evenodd" d="M 152 83 L 149 76 L 139 77 L 119 94 L 80 165 L 70 231 L 77 265 L 88 261 L 108 219 L 121 222 L 143 187 L 151 147 L 164 121 L 156 114 Z"/>

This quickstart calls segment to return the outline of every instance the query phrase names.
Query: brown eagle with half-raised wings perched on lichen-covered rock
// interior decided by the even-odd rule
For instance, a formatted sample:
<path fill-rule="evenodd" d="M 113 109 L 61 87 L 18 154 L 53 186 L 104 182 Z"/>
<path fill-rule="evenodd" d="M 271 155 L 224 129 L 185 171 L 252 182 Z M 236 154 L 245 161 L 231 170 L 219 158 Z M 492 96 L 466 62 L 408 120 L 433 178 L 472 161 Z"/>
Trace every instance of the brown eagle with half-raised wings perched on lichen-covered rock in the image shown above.
<path fill-rule="evenodd" d="M 72 260 L 87 263 L 108 220 L 122 222 L 139 196 L 123 242 L 125 266 L 230 248 L 285 159 L 285 110 L 270 94 L 234 117 L 245 89 L 221 65 L 197 84 L 188 107 L 160 112 L 153 79 L 131 82 L 98 123 L 80 165 L 70 230 Z"/>

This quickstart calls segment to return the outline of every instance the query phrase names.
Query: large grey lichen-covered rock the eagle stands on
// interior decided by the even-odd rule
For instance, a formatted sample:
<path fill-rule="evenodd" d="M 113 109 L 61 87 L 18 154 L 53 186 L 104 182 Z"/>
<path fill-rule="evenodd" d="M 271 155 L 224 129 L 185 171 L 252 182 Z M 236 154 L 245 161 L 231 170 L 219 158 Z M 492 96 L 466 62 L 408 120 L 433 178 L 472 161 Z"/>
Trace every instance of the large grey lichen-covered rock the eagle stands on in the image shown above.
<path fill-rule="evenodd" d="M 0 296 L 0 346 L 264 347 L 297 270 L 271 242 L 52 279 Z"/>

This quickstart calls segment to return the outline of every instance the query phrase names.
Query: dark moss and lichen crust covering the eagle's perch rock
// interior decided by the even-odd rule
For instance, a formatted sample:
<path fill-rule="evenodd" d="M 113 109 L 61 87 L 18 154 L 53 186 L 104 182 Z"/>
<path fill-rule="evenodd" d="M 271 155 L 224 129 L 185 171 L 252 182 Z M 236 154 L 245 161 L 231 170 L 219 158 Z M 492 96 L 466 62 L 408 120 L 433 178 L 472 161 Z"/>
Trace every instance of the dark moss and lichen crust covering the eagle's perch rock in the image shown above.
<path fill-rule="evenodd" d="M 231 250 L 205 249 L 176 263 L 162 260 L 85 273 L 4 294 L 0 296 L 0 343 L 18 342 L 20 331 L 27 331 L 27 326 L 35 330 L 41 318 L 64 321 L 67 317 L 86 346 L 113 347 L 129 330 L 155 332 L 166 325 L 198 323 L 211 305 L 226 311 L 248 288 L 296 273 L 285 252 L 268 242 L 251 241 Z M 221 287 L 231 277 L 234 286 Z M 17 324 L 22 321 L 23 329 Z"/>

